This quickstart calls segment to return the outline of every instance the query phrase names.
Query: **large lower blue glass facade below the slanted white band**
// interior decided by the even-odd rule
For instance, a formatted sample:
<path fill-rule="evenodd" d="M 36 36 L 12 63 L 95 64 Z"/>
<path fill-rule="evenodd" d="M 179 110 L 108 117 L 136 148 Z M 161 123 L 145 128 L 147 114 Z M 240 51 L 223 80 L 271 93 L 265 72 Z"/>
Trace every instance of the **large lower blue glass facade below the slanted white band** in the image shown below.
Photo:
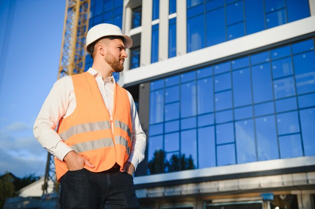
<path fill-rule="evenodd" d="M 152 81 L 148 174 L 312 156 L 314 123 L 314 39 Z"/>

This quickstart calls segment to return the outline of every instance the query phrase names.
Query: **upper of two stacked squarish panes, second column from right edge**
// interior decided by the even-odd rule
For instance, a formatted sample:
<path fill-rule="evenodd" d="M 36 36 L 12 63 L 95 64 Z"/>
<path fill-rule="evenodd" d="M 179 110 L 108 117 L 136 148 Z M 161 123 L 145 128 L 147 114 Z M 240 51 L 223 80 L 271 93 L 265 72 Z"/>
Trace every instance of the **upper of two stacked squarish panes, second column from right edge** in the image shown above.
<path fill-rule="evenodd" d="M 279 78 L 286 75 L 292 75 L 292 59 L 287 57 L 272 62 L 272 74 L 273 78 Z"/>

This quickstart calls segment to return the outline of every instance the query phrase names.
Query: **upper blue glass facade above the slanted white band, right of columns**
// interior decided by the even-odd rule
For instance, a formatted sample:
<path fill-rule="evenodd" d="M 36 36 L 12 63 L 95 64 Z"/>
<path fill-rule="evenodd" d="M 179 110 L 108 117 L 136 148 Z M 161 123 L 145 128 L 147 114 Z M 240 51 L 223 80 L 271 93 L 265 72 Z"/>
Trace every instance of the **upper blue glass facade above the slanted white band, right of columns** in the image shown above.
<path fill-rule="evenodd" d="M 308 0 L 187 0 L 187 52 L 309 16 Z"/>

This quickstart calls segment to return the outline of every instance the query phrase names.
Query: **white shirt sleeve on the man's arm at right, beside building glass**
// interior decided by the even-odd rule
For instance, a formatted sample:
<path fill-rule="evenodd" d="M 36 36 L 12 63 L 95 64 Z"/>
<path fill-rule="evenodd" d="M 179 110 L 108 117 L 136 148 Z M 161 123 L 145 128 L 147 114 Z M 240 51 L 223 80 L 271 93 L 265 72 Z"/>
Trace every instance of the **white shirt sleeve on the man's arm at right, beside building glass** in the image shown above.
<path fill-rule="evenodd" d="M 127 91 L 128 92 L 128 91 Z M 132 95 L 128 92 L 130 100 L 130 115 L 132 123 L 132 147 L 130 150 L 128 162 L 131 162 L 135 169 L 138 164 L 144 159 L 144 151 L 146 146 L 146 136 L 141 128 L 137 109 L 132 98 Z"/>

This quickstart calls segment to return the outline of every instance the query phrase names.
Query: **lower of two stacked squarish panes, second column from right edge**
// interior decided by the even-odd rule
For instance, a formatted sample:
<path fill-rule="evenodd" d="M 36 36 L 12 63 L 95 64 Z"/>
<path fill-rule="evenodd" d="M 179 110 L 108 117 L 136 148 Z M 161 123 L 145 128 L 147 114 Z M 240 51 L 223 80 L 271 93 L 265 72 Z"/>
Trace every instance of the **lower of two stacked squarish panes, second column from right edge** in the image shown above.
<path fill-rule="evenodd" d="M 295 95 L 293 77 L 274 80 L 273 86 L 276 99 Z"/>

